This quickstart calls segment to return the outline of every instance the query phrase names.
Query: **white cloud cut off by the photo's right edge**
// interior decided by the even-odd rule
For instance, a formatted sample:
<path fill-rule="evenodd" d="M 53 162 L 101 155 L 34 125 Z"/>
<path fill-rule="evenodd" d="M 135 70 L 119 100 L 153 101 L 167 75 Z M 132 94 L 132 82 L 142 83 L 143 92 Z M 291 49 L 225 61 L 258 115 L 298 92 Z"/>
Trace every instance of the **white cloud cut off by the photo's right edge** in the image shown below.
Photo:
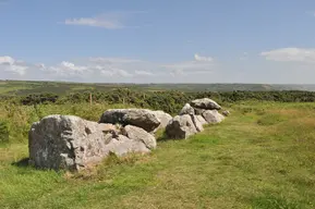
<path fill-rule="evenodd" d="M 279 62 L 315 62 L 315 49 L 282 48 L 261 53 L 266 60 Z"/>

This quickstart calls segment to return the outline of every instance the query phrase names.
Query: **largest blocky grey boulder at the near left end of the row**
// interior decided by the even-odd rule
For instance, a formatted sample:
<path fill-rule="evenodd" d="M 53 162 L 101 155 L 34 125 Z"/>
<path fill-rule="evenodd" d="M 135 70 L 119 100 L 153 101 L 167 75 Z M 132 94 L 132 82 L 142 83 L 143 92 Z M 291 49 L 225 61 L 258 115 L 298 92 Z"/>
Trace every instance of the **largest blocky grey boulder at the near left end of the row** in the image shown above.
<path fill-rule="evenodd" d="M 29 131 L 29 163 L 38 168 L 80 170 L 99 162 L 105 148 L 98 123 L 77 116 L 46 116 Z"/>

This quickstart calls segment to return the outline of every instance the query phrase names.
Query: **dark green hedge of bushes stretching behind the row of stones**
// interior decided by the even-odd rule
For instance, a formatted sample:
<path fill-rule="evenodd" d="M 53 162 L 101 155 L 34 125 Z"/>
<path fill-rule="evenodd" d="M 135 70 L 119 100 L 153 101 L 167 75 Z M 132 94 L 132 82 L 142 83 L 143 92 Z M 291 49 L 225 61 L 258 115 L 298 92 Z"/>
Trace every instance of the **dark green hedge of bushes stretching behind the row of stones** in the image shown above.
<path fill-rule="evenodd" d="M 108 91 L 87 90 L 68 94 L 60 97 L 54 94 L 46 93 L 39 95 L 28 95 L 20 98 L 22 104 L 47 104 L 47 103 L 82 103 L 89 102 L 89 95 L 96 103 L 122 103 L 131 104 L 138 108 L 149 108 L 154 110 L 163 110 L 171 114 L 177 114 L 184 103 L 196 98 L 208 97 L 219 103 L 231 103 L 239 101 L 277 101 L 277 102 L 314 102 L 315 93 L 283 90 L 283 91 L 225 91 L 225 93 L 183 93 L 178 90 L 166 91 L 140 91 L 129 88 L 114 88 Z M 12 100 L 5 97 L 4 100 Z M 16 99 L 15 99 L 16 102 Z M 75 110 L 73 110 L 75 112 Z"/>

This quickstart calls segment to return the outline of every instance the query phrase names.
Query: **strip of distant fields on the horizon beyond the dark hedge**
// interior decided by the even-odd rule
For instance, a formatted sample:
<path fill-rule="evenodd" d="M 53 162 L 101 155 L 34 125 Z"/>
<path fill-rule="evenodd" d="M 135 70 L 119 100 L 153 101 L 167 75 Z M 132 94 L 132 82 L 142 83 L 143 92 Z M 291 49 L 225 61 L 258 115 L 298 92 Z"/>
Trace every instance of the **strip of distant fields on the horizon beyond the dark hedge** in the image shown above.
<path fill-rule="evenodd" d="M 65 95 L 85 90 L 111 90 L 130 88 L 144 91 L 233 91 L 233 90 L 315 90 L 315 85 L 267 85 L 267 84 L 80 84 L 63 82 L 0 81 L 0 95 L 29 95 L 53 93 Z"/>

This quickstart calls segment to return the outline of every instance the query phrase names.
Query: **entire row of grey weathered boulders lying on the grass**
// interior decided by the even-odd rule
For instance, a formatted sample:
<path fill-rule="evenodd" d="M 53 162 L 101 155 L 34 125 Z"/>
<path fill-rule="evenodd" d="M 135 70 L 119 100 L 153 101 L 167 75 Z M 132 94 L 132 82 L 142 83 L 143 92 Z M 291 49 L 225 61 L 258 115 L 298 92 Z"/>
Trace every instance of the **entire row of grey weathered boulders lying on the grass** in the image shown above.
<path fill-rule="evenodd" d="M 192 106 L 191 106 L 192 104 Z M 187 138 L 223 116 L 210 99 L 194 100 L 180 115 L 146 109 L 107 110 L 99 122 L 72 115 L 49 115 L 29 131 L 29 162 L 37 168 L 81 170 L 113 152 L 149 152 L 157 146 L 154 133 L 166 128 L 170 138 Z"/>

